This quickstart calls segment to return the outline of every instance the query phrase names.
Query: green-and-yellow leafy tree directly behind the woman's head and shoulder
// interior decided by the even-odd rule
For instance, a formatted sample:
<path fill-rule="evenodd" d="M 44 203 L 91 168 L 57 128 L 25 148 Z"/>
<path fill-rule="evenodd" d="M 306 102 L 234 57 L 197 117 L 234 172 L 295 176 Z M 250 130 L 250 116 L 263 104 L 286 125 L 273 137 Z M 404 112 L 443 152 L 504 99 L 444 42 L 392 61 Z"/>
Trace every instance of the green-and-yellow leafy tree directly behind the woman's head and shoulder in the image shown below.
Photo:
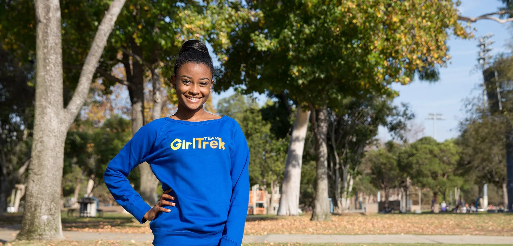
<path fill-rule="evenodd" d="M 103 2 L 103 1 L 100 1 Z M 174 56 L 185 40 L 196 38 L 214 47 L 225 47 L 230 22 L 248 18 L 239 11 L 239 1 L 128 1 L 120 14 L 116 30 L 96 72 L 109 83 L 127 86 L 132 117 L 132 133 L 146 124 L 144 79 L 149 71 L 152 81 L 152 118 L 160 118 L 165 86 L 173 72 Z M 220 58 L 223 55 L 219 55 Z M 69 68 L 76 68 L 74 65 Z M 113 76 L 116 67 L 123 76 Z M 146 102 L 147 104 L 148 102 Z M 137 167 L 141 174 L 140 193 L 154 204 L 158 180 L 148 163 Z"/>

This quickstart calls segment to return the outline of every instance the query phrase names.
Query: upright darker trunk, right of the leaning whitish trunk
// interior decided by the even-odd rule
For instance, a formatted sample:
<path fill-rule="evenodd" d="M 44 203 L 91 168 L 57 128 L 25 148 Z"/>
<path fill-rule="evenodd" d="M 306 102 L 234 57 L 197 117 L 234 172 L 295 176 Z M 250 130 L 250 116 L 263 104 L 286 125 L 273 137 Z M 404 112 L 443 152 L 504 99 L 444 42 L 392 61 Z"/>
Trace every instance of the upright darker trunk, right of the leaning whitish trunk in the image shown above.
<path fill-rule="evenodd" d="M 317 161 L 314 208 L 311 220 L 330 220 L 328 200 L 328 109 L 315 109 L 315 154 Z"/>

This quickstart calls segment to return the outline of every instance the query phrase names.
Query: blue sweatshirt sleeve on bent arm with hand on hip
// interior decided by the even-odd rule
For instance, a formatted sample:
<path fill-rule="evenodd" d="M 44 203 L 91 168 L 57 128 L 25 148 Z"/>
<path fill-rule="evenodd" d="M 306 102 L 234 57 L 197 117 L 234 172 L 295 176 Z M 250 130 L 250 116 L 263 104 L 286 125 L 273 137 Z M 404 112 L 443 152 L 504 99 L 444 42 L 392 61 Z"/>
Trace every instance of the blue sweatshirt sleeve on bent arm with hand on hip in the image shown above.
<path fill-rule="evenodd" d="M 151 207 L 132 188 L 127 177 L 140 163 L 149 160 L 157 138 L 157 130 L 154 125 L 154 122 L 150 122 L 140 128 L 120 153 L 109 162 L 103 176 L 105 184 L 116 202 L 140 223 L 146 222 L 143 217 Z"/>

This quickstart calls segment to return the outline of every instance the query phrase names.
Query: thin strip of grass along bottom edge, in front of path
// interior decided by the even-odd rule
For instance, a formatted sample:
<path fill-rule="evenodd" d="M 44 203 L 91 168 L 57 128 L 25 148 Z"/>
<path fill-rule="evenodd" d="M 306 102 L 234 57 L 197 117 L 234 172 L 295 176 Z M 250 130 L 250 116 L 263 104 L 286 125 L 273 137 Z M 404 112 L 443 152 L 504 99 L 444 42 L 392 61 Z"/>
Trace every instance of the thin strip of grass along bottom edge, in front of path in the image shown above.
<path fill-rule="evenodd" d="M 2 245 L 2 243 L 0 243 Z M 151 246 L 150 242 L 127 241 L 18 241 L 4 244 L 5 246 Z M 500 246 L 500 244 L 442 244 L 442 243 L 243 243 L 242 246 Z"/>

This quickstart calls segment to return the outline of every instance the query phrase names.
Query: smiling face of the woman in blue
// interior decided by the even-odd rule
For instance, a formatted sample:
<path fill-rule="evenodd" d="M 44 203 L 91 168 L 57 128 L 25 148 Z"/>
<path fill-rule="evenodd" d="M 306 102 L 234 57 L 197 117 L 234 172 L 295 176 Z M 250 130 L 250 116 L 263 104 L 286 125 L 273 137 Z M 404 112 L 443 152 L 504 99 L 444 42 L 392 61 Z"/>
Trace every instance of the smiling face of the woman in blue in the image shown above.
<path fill-rule="evenodd" d="M 199 63 L 186 63 L 171 80 L 180 104 L 187 109 L 199 109 L 205 104 L 214 84 L 210 69 Z"/>

